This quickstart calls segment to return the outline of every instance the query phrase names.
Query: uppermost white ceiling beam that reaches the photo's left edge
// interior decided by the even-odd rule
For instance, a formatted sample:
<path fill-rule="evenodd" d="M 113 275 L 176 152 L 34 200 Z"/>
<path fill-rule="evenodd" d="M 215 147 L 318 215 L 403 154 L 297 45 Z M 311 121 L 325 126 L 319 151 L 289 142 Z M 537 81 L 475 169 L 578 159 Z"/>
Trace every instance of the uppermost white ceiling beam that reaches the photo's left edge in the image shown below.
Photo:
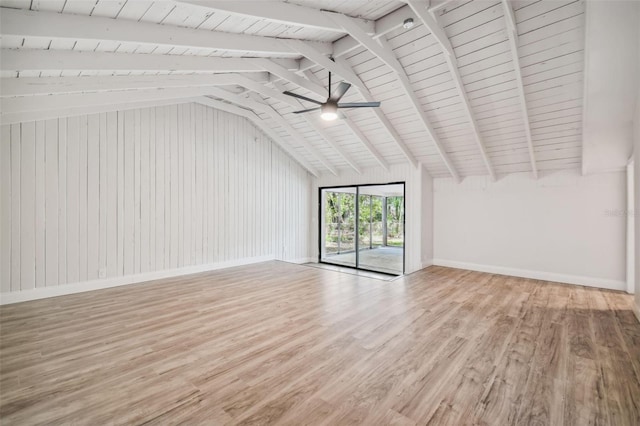
<path fill-rule="evenodd" d="M 3 35 L 22 37 L 129 42 L 268 55 L 295 53 L 286 44 L 273 37 L 197 30 L 69 13 L 3 9 L 0 14 L 0 26 Z M 313 43 L 320 50 L 327 53 L 331 51 L 329 43 Z"/>

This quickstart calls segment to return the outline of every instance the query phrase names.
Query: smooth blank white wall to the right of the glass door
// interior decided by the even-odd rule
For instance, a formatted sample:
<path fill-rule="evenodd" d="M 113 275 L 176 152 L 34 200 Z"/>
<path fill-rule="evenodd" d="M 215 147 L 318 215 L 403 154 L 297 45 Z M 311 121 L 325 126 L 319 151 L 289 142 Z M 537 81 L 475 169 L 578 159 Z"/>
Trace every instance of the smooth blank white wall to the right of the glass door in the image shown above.
<path fill-rule="evenodd" d="M 435 264 L 626 289 L 626 176 L 434 181 Z"/>

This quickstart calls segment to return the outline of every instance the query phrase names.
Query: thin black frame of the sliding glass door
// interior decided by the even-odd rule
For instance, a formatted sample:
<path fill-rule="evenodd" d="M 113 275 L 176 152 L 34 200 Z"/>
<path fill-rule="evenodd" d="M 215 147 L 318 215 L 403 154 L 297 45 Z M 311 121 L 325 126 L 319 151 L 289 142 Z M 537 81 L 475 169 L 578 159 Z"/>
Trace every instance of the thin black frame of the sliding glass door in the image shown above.
<path fill-rule="evenodd" d="M 359 258 L 360 258 L 360 235 L 358 233 L 358 225 L 360 222 L 359 213 L 360 213 L 360 187 L 362 186 L 385 186 L 385 185 L 402 185 L 402 274 L 390 274 L 388 272 L 376 271 L 374 269 L 360 268 Z M 355 266 L 346 266 L 339 265 L 337 263 L 326 262 L 322 260 L 322 191 L 332 188 L 356 188 L 356 200 L 355 200 L 355 250 L 356 250 L 356 264 Z M 356 269 L 359 271 L 367 271 L 367 272 L 375 272 L 378 274 L 391 275 L 394 277 L 402 276 L 405 274 L 406 263 L 407 263 L 407 185 L 406 181 L 397 181 L 397 182 L 384 182 L 384 183 L 363 183 L 363 184 L 353 184 L 353 185 L 331 185 L 331 186 L 319 186 L 318 187 L 318 263 L 322 263 L 325 265 L 333 265 L 333 266 L 341 266 L 343 268 Z"/>

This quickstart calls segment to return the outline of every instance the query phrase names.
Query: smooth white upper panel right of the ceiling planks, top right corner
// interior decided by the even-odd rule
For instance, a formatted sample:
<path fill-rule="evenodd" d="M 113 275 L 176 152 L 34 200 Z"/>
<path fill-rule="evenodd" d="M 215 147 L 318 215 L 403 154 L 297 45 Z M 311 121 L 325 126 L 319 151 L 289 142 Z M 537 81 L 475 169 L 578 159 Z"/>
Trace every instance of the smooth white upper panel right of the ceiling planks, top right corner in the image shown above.
<path fill-rule="evenodd" d="M 640 2 L 587 1 L 583 171 L 624 170 L 640 75 Z"/>

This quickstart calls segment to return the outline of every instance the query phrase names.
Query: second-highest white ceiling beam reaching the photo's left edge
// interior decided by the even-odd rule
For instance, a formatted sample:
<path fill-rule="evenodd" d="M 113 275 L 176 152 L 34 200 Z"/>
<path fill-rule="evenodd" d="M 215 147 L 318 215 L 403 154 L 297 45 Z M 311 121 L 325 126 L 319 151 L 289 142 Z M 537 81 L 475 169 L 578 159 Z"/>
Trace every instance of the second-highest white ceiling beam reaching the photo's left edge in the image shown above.
<path fill-rule="evenodd" d="M 2 49 L 2 71 L 188 71 L 188 72 L 262 72 L 248 58 L 206 56 L 140 55 L 131 53 L 77 52 L 73 50 Z M 287 70 L 298 69 L 293 59 L 273 60 Z"/>

